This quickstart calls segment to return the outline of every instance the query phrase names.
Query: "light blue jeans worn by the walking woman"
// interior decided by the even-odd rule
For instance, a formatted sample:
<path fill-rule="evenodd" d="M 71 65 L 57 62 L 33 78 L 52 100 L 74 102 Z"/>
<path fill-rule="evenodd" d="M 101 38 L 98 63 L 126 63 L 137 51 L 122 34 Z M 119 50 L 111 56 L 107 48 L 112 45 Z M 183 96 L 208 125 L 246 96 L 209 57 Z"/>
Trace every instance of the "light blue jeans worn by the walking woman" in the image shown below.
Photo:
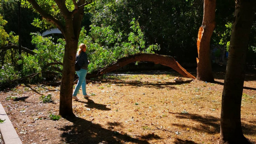
<path fill-rule="evenodd" d="M 76 96 L 81 85 L 82 85 L 82 91 L 83 91 L 83 95 L 87 95 L 86 94 L 86 74 L 87 74 L 87 70 L 86 69 L 80 69 L 78 71 L 76 71 L 77 76 L 79 77 L 78 82 L 76 84 L 76 88 L 75 91 L 73 93 L 73 96 Z"/>

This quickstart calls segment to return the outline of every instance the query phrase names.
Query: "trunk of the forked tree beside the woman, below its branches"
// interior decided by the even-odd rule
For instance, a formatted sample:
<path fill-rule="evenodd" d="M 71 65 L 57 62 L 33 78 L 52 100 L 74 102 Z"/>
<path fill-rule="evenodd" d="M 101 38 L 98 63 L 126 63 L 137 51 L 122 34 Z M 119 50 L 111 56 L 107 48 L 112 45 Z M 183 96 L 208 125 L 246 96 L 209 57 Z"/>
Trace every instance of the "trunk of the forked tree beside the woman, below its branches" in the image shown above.
<path fill-rule="evenodd" d="M 75 60 L 77 40 L 66 39 L 65 53 L 63 59 L 63 70 L 60 84 L 60 111 L 64 118 L 74 117 L 72 109 L 72 93 L 75 74 Z"/>

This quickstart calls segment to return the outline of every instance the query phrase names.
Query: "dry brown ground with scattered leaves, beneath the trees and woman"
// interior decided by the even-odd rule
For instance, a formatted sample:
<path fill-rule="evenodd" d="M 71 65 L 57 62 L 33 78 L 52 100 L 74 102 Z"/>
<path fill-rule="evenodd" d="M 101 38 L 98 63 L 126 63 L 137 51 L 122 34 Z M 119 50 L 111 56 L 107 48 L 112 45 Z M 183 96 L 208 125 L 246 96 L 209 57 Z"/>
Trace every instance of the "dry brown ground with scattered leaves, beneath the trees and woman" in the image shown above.
<path fill-rule="evenodd" d="M 188 70 L 189 71 L 189 70 Z M 194 76 L 196 71 L 191 70 Z M 215 83 L 175 71 L 130 72 L 87 84 L 90 98 L 73 101 L 74 120 L 58 115 L 60 87 L 20 84 L 0 92 L 1 103 L 23 144 L 216 144 L 220 138 L 225 69 Z M 241 119 L 245 137 L 256 142 L 256 73 L 247 72 Z M 80 90 L 82 92 L 82 90 Z M 42 103 L 42 95 L 53 102 Z"/>

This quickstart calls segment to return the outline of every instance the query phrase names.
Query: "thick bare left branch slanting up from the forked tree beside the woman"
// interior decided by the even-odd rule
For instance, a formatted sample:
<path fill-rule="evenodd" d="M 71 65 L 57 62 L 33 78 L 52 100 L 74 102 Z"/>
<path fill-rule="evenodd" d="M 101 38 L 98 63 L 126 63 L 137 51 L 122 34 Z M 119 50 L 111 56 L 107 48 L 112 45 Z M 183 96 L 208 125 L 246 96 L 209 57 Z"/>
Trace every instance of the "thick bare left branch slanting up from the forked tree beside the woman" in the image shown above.
<path fill-rule="evenodd" d="M 54 25 L 56 25 L 60 31 L 62 32 L 62 34 L 65 36 L 64 33 L 64 26 L 61 24 L 61 22 L 59 20 L 56 20 L 52 15 L 48 14 L 47 12 L 45 12 L 40 5 L 36 2 L 36 0 L 28 0 L 28 2 L 30 4 L 32 4 L 33 8 L 40 13 L 40 15 L 42 17 L 44 17 L 46 20 L 50 21 L 51 23 L 53 23 Z"/>

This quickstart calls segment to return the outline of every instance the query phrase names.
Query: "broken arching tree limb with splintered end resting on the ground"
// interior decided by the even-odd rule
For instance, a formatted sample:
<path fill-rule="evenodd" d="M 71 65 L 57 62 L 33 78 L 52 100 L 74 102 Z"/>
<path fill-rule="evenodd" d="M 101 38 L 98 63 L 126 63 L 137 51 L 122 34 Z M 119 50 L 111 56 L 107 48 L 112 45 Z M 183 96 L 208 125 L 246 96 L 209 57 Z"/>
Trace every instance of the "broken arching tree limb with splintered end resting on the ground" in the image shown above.
<path fill-rule="evenodd" d="M 89 79 L 89 78 L 101 76 L 103 74 L 114 71 L 117 68 L 123 67 L 135 61 L 151 61 L 151 62 L 154 62 L 155 64 L 161 64 L 161 65 L 170 67 L 176 70 L 177 72 L 179 72 L 182 76 L 196 79 L 195 76 L 191 75 L 186 71 L 186 69 L 181 67 L 180 64 L 177 61 L 175 61 L 175 59 L 172 56 L 149 54 L 149 53 L 140 53 L 140 54 L 130 55 L 128 57 L 121 58 L 108 67 L 93 71 L 91 74 L 87 74 L 86 78 Z"/>

